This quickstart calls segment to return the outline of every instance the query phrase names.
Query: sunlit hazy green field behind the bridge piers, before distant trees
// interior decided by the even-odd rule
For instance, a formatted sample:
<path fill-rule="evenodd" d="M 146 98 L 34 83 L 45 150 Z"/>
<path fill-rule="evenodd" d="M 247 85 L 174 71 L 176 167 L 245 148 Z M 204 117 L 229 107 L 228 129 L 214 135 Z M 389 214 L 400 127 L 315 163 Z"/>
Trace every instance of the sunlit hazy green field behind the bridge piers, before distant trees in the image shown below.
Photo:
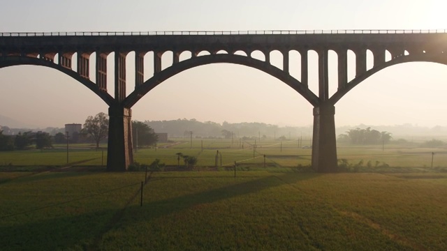
<path fill-rule="evenodd" d="M 150 164 L 156 158 L 170 166 L 177 166 L 176 153 L 193 155 L 198 158 L 198 167 L 215 167 L 217 151 L 219 151 L 218 167 L 237 166 L 249 169 L 252 167 L 266 168 L 291 168 L 298 166 L 309 166 L 312 162 L 312 149 L 302 149 L 298 140 L 279 142 L 272 139 L 261 139 L 256 142 L 254 151 L 254 140 L 250 142 L 239 142 L 231 139 L 175 139 L 172 144 L 159 144 L 155 149 L 138 149 L 134 153 L 134 160 L 141 164 Z M 305 145 L 303 142 L 302 145 Z M 17 167 L 30 169 L 31 167 L 62 167 L 66 165 L 82 165 L 101 167 L 107 165 L 106 149 L 88 149 L 85 145 L 79 148 L 69 149 L 68 164 L 66 161 L 66 149 L 45 149 L 29 151 L 0 152 L 0 169 L 8 166 L 9 169 Z M 432 156 L 432 153 L 434 155 Z M 423 149 L 416 144 L 386 145 L 382 146 L 351 146 L 339 144 L 337 146 L 339 160 L 346 160 L 349 165 L 358 165 L 362 162 L 363 167 L 393 167 L 395 169 L 416 169 L 421 172 L 431 169 L 432 157 L 433 167 L 437 169 L 447 168 L 446 149 Z M 369 164 L 368 164 L 369 162 Z M 180 160 L 180 165 L 183 165 Z M 364 168 L 374 171 L 374 168 Z M 361 170 L 361 169 L 360 169 Z M 381 170 L 383 171 L 383 169 Z M 394 171 L 393 171 L 394 172 Z"/>

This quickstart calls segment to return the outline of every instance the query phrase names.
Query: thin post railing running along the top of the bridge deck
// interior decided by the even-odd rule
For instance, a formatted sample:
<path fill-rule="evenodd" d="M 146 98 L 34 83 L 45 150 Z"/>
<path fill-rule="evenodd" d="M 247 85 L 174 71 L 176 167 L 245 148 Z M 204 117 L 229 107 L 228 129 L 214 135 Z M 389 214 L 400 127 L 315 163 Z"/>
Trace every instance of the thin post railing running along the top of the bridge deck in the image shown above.
<path fill-rule="evenodd" d="M 0 37 L 17 36 L 198 36 L 198 35 L 295 35 L 295 34 L 418 34 L 447 33 L 447 29 L 419 30 L 300 30 L 300 31 L 75 31 L 75 32 L 3 32 Z"/>

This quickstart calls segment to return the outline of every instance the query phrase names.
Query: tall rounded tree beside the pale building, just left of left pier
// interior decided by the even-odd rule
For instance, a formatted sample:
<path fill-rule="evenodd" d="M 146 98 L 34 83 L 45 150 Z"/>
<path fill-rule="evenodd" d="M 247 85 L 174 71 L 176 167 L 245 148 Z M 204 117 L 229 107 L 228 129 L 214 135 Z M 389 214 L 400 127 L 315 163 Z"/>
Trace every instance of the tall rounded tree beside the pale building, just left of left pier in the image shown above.
<path fill-rule="evenodd" d="M 88 116 L 82 130 L 94 139 L 94 142 L 96 142 L 96 149 L 98 149 L 101 139 L 105 139 L 108 135 L 109 119 L 107 114 L 100 112 L 94 117 Z"/>

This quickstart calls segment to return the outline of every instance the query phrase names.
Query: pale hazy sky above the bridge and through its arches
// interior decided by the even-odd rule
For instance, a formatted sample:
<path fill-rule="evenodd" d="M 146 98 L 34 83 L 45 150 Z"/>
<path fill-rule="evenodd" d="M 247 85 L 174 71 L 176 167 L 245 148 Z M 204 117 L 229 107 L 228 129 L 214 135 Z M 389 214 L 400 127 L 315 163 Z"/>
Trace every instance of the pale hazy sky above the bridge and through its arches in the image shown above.
<path fill-rule="evenodd" d="M 0 32 L 302 29 L 447 29 L 447 18 L 441 0 L 21 0 L 4 1 L 0 8 Z M 133 55 L 128 56 L 129 65 Z M 278 53 L 271 57 L 272 63 L 281 66 Z M 112 67 L 109 59 L 108 67 Z M 148 54 L 145 79 L 152 77 L 151 60 Z M 309 86 L 316 92 L 316 54 L 309 54 L 309 61 Z M 337 88 L 334 54 L 329 61 L 333 93 Z M 171 54 L 163 55 L 163 68 L 170 62 Z M 131 67 L 128 94 L 134 86 Z M 298 79 L 299 69 L 298 63 L 291 63 L 291 74 Z M 349 73 L 353 70 L 351 67 Z M 112 83 L 109 74 L 109 92 L 113 91 Z M 387 68 L 337 103 L 336 126 L 447 126 L 446 83 L 444 65 L 406 63 Z M 0 90 L 0 114 L 36 126 L 84 123 L 89 115 L 108 112 L 105 103 L 89 89 L 50 68 L 2 68 Z M 286 84 L 259 70 L 223 63 L 175 75 L 133 107 L 133 119 L 140 121 L 183 118 L 280 126 L 308 126 L 313 120 L 312 106 Z"/>

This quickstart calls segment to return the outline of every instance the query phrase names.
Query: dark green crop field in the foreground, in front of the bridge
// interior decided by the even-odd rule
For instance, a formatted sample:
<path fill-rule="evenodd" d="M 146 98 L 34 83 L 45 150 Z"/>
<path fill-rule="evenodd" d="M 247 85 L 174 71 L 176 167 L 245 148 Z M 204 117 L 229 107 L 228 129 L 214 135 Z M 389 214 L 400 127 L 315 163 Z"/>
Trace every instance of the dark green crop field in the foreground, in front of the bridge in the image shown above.
<path fill-rule="evenodd" d="M 0 172 L 1 250 L 447 250 L 447 174 Z"/>

